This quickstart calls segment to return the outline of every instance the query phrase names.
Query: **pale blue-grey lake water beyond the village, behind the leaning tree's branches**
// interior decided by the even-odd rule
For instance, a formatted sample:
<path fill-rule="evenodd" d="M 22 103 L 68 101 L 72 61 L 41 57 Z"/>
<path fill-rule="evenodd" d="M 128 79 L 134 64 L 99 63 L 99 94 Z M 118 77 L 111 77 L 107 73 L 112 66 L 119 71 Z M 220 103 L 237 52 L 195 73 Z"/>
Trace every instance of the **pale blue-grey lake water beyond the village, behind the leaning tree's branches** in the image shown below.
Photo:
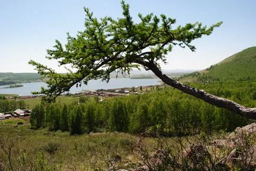
<path fill-rule="evenodd" d="M 31 82 L 21 83 L 22 87 L 0 89 L 0 94 L 17 94 L 20 96 L 32 95 L 31 92 L 40 91 L 41 87 L 47 87 L 44 82 Z M 83 90 L 97 90 L 97 89 L 116 89 L 133 86 L 147 86 L 147 85 L 160 85 L 159 79 L 110 79 L 109 83 L 102 82 L 101 80 L 91 80 L 87 85 L 81 85 L 76 88 L 76 85 L 70 89 L 70 93 L 78 93 Z M 0 88 L 5 86 L 0 86 Z"/>

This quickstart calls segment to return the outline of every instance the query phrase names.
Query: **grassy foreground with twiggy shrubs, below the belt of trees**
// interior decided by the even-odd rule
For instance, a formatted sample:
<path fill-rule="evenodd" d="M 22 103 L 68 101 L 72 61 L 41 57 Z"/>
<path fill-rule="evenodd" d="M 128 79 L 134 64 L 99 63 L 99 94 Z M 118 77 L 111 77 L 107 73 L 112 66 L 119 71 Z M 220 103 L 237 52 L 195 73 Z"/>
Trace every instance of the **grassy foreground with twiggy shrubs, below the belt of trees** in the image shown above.
<path fill-rule="evenodd" d="M 0 126 L 0 170 L 254 169 L 247 162 L 250 153 L 244 152 L 255 145 L 255 135 L 243 136 L 238 147 L 244 157 L 232 163 L 228 159 L 232 148 L 212 143 L 224 134 L 161 138 L 157 129 L 149 129 L 140 136 L 118 132 L 70 136 L 29 127 Z"/>

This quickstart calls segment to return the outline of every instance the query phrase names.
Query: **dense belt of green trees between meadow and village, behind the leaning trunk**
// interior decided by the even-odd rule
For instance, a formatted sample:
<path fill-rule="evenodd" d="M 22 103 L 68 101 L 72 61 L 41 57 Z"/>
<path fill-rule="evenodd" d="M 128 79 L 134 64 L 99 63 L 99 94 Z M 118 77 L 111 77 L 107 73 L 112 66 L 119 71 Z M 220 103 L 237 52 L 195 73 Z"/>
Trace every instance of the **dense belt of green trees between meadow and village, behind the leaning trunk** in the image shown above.
<path fill-rule="evenodd" d="M 256 105 L 256 82 L 191 84 L 246 106 Z M 32 129 L 68 131 L 70 135 L 106 131 L 137 134 L 157 128 L 164 136 L 184 136 L 219 130 L 230 132 L 250 120 L 168 86 L 156 86 L 144 95 L 103 102 L 97 97 L 80 97 L 69 105 L 41 103 L 32 109 L 30 122 Z"/>

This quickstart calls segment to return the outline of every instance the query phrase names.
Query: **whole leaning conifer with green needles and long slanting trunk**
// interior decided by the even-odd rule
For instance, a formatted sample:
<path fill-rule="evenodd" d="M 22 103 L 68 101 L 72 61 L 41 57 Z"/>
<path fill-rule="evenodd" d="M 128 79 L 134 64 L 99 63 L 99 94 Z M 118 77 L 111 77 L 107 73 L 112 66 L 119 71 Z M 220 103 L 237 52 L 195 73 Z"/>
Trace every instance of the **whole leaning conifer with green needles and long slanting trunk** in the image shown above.
<path fill-rule="evenodd" d="M 129 5 L 122 1 L 122 7 L 123 18 L 117 20 L 108 16 L 94 18 L 93 13 L 84 8 L 84 31 L 78 32 L 76 37 L 67 34 L 65 48 L 60 41 L 56 41 L 54 49 L 47 50 L 48 59 L 57 60 L 60 66 L 71 65 L 76 72 L 67 68 L 68 73 L 63 75 L 40 63 L 29 61 L 48 84 L 47 89 L 42 88 L 38 92 L 45 95 L 45 100 L 50 102 L 72 86 L 87 83 L 91 79 L 101 78 L 108 82 L 113 71 L 129 73 L 132 68 L 142 66 L 155 73 L 167 85 L 182 92 L 245 118 L 256 119 L 256 108 L 246 108 L 231 100 L 184 85 L 169 78 L 160 69 L 159 61 L 166 63 L 166 55 L 172 51 L 173 46 L 188 47 L 195 51 L 191 42 L 202 35 L 210 35 L 222 22 L 210 27 L 196 22 L 173 28 L 175 19 L 165 15 L 157 17 L 153 14 L 139 14 L 140 22 L 136 24 L 130 16 Z"/>

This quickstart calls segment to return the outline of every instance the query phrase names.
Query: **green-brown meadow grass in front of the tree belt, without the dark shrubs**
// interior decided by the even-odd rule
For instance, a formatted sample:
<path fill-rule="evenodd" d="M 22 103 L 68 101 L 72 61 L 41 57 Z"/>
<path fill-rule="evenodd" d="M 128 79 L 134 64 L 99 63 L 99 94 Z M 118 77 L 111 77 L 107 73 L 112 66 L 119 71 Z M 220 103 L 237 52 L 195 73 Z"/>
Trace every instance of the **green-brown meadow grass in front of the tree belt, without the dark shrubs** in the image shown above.
<path fill-rule="evenodd" d="M 159 153 L 161 155 L 162 149 L 168 150 L 168 156 L 171 159 L 173 156 L 182 156 L 180 153 L 184 152 L 184 147 L 187 147 L 189 142 L 197 143 L 198 140 L 201 140 L 204 143 L 203 145 L 209 145 L 212 140 L 225 139 L 226 136 L 227 134 L 218 133 L 209 139 L 207 135 L 201 135 L 201 139 L 199 139 L 199 136 L 158 139 L 143 138 L 143 136 L 119 132 L 70 136 L 68 132 L 48 132 L 47 128 L 32 130 L 28 124 L 18 126 L 0 125 L 0 169 L 114 170 L 110 169 L 112 164 L 124 168 L 134 166 L 127 165 L 127 163 L 145 166 L 142 161 L 157 162 L 158 160 L 150 160 L 149 157 L 157 156 Z M 205 142 L 206 140 L 208 142 Z M 254 140 L 252 140 L 252 143 L 254 143 Z M 11 150 L 9 150 L 10 147 Z M 3 149 L 10 153 L 5 153 Z M 215 153 L 214 149 L 212 148 L 211 152 L 220 155 L 212 155 L 212 159 L 218 157 L 217 162 L 223 158 L 222 155 L 227 156 L 227 149 L 224 149 L 223 152 L 225 153 L 223 154 L 222 151 L 219 152 L 218 150 Z M 152 155 L 153 153 L 155 155 Z M 11 154 L 12 169 L 9 165 L 8 154 Z M 156 159 L 165 161 L 164 158 Z M 175 158 L 174 160 L 181 161 L 179 159 Z M 168 160 L 168 162 L 172 161 Z M 154 163 L 148 164 L 154 166 Z"/>

